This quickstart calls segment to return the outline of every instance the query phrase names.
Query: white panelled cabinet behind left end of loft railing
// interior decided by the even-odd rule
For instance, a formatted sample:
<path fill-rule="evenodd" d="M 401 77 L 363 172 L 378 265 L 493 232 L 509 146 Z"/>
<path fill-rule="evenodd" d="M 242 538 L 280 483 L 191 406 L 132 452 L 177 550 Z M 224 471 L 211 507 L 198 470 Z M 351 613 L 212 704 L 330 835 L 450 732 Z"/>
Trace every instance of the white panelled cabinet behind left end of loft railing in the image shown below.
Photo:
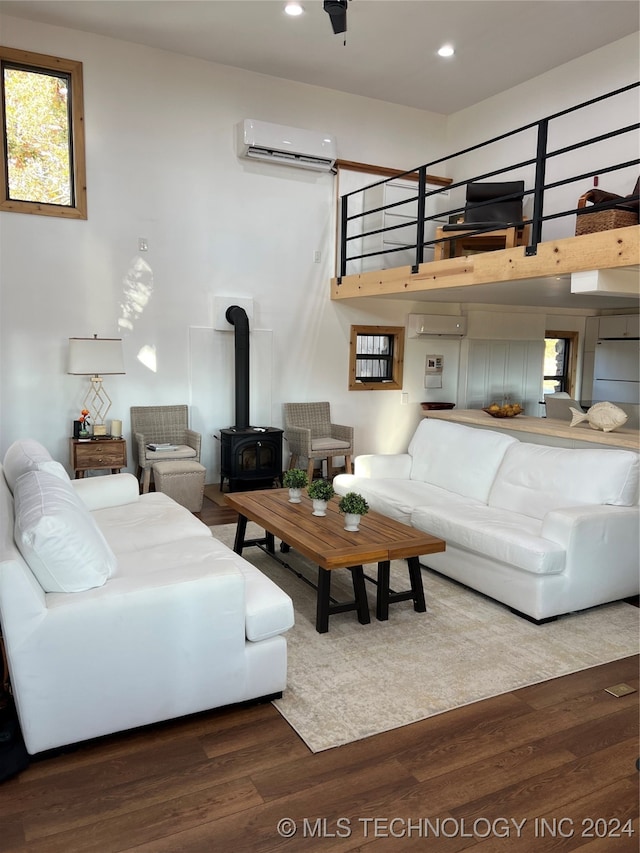
<path fill-rule="evenodd" d="M 435 189 L 435 186 L 431 187 Z M 427 185 L 429 189 L 429 185 Z M 362 240 L 362 253 L 375 252 L 362 259 L 362 272 L 412 266 L 416 259 L 418 183 L 389 181 L 370 187 L 363 193 L 364 210 L 371 213 L 363 218 L 363 232 L 378 231 Z M 387 205 L 394 205 L 387 207 Z M 381 208 L 386 208 L 382 210 Z M 427 197 L 425 215 L 433 215 L 433 204 Z M 425 222 L 425 240 L 435 238 L 436 222 Z M 380 231 L 380 229 L 385 229 Z M 433 260 L 433 246 L 424 250 L 424 261 Z"/>

